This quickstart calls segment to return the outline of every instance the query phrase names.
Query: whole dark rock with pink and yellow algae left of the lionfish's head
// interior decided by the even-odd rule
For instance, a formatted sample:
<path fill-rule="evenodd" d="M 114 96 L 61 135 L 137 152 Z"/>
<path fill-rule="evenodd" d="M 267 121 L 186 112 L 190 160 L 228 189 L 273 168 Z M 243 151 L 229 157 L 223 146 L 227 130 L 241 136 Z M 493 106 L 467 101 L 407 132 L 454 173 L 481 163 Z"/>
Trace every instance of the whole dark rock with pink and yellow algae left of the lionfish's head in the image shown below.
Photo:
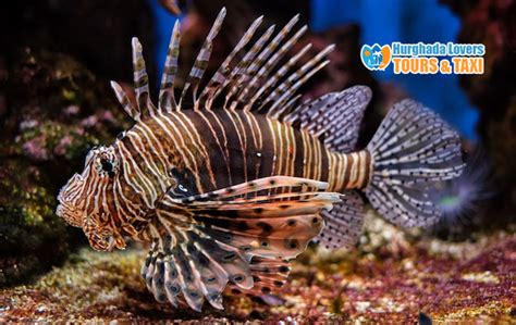
<path fill-rule="evenodd" d="M 105 82 L 74 59 L 29 48 L 17 58 L 0 74 L 0 286 L 60 263 L 82 238 L 54 215 L 56 196 L 123 126 Z"/>

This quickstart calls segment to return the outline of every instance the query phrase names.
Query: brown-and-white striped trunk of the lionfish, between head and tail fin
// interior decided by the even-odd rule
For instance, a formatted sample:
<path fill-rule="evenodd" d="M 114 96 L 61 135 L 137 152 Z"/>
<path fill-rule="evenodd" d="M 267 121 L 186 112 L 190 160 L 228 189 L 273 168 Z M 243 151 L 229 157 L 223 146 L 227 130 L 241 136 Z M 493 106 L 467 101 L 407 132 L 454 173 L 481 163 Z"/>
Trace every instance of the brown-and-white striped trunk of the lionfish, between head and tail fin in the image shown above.
<path fill-rule="evenodd" d="M 244 111 L 164 113 L 136 125 L 115 147 L 148 166 L 142 183 L 163 191 L 170 173 L 195 195 L 274 175 L 322 180 L 342 191 L 365 188 L 371 175 L 368 151 L 332 152 L 306 130 Z"/>

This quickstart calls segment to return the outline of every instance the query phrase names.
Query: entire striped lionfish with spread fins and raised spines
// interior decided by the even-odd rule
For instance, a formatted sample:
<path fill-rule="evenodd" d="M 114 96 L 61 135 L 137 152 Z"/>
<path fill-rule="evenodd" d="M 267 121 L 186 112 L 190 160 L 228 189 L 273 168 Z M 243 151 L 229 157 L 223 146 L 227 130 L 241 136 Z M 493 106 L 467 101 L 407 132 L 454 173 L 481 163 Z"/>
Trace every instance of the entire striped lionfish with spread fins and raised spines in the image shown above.
<path fill-rule="evenodd" d="M 160 302 L 186 301 L 196 311 L 205 299 L 223 309 L 226 287 L 270 297 L 311 240 L 353 246 L 364 221 L 360 191 L 396 225 L 433 224 L 440 210 L 427 188 L 463 168 L 457 134 L 413 100 L 395 104 L 359 151 L 368 87 L 298 102 L 297 90 L 333 49 L 305 64 L 311 45 L 285 58 L 307 30 L 292 32 L 298 15 L 275 35 L 271 26 L 254 37 L 257 18 L 199 87 L 224 16 L 222 9 L 177 92 L 175 24 L 158 107 L 133 38 L 135 102 L 111 86 L 135 125 L 89 151 L 57 208 L 96 250 L 124 249 L 125 238 L 150 242 L 142 267 L 148 289 Z"/>

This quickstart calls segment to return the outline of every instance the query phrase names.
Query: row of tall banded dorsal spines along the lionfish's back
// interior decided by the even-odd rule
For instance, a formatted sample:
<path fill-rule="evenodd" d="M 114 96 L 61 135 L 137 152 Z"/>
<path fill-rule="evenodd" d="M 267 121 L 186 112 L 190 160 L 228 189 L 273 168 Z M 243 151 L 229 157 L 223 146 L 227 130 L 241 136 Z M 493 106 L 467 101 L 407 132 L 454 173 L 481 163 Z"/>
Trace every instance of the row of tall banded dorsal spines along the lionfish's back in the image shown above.
<path fill-rule="evenodd" d="M 219 12 L 196 57 L 195 63 L 181 90 L 179 101 L 175 97 L 174 84 L 179 68 L 177 59 L 181 24 L 179 21 L 175 22 L 170 39 L 164 72 L 161 77 L 158 108 L 156 108 L 150 100 L 148 76 L 142 53 L 142 45 L 137 38 L 133 38 L 136 105 L 130 102 L 127 93 L 124 92 L 120 85 L 112 83 L 112 87 L 119 101 L 124 107 L 124 110 L 135 121 L 139 121 L 142 115 L 152 117 L 161 112 L 179 111 L 181 110 L 183 101 L 186 100 L 186 95 L 189 96 L 189 93 L 192 93 L 193 109 L 195 111 L 201 108 L 211 110 L 217 97 L 224 92 L 225 101 L 222 107 L 223 109 L 262 111 L 267 113 L 267 116 L 275 120 L 288 118 L 287 115 L 291 114 L 294 104 L 299 98 L 295 92 L 308 78 L 328 64 L 328 61 L 322 61 L 333 49 L 333 46 L 327 47 L 303 66 L 291 72 L 299 60 L 302 60 L 303 55 L 308 53 L 311 45 L 304 46 L 292 58 L 284 60 L 286 62 L 282 63 L 281 66 L 278 66 L 278 64 L 282 62 L 285 54 L 306 33 L 307 26 L 303 26 L 287 38 L 295 24 L 299 21 L 299 15 L 296 15 L 272 39 L 274 25 L 269 27 L 267 32 L 253 43 L 250 50 L 244 51 L 263 21 L 263 16 L 260 16 L 249 25 L 237 45 L 211 76 L 207 86 L 199 91 L 198 88 L 213 50 L 213 39 L 221 29 L 225 14 L 226 11 L 225 8 L 223 8 Z M 245 54 L 242 52 L 245 52 Z M 244 58 L 238 60 L 237 58 L 241 53 Z M 281 84 L 279 84 L 280 82 Z M 317 132 L 320 133 L 320 129 L 317 129 Z"/>

